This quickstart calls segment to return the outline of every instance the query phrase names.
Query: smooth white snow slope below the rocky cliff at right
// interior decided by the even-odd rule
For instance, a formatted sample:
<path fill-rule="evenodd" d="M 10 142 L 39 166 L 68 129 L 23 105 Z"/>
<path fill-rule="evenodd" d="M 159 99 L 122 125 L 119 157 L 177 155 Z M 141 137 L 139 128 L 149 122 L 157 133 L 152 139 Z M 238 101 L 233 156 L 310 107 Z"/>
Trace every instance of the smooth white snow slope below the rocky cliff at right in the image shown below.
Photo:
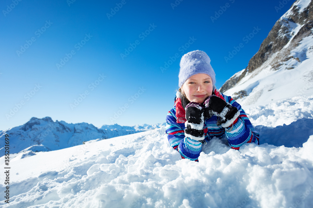
<path fill-rule="evenodd" d="M 224 94 L 234 97 L 234 93 L 246 91 L 248 96 L 236 99 L 238 103 L 244 106 L 265 105 L 299 95 L 313 94 L 313 36 L 306 37 L 301 41 L 301 45 L 292 52 L 304 51 L 308 47 L 312 49 L 306 50 L 307 52 L 303 55 L 307 59 L 299 63 L 294 69 L 287 70 L 282 66 L 279 70 L 274 71 L 271 70 L 270 66 L 266 66 L 267 62 L 265 62 L 262 70 L 247 74 L 237 85 L 228 89 Z M 286 63 L 286 65 L 292 64 Z"/>

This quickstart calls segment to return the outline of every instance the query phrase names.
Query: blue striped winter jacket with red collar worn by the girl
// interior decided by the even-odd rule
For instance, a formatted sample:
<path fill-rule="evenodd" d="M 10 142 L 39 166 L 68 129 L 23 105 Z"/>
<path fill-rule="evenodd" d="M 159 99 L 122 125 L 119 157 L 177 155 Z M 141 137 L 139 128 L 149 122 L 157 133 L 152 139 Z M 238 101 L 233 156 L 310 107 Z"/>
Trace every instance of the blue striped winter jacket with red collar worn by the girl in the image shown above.
<path fill-rule="evenodd" d="M 218 89 L 214 89 L 213 92 L 227 103 L 236 107 L 239 110 L 240 115 L 230 132 L 225 131 L 225 128 L 216 124 L 218 120 L 217 116 L 213 115 L 211 118 L 206 119 L 203 125 L 205 140 L 209 141 L 213 137 L 221 138 L 226 134 L 230 147 L 237 150 L 239 150 L 239 147 L 244 143 L 259 144 L 259 133 L 254 129 L 241 106 L 230 96 L 226 96 L 219 92 Z M 174 98 L 174 107 L 166 116 L 166 133 L 168 142 L 171 147 L 177 149 L 181 153 L 182 158 L 198 161 L 201 152 L 201 142 L 192 140 L 187 136 L 185 137 L 185 114 L 186 111 L 182 106 L 182 95 L 177 91 L 176 97 Z"/>

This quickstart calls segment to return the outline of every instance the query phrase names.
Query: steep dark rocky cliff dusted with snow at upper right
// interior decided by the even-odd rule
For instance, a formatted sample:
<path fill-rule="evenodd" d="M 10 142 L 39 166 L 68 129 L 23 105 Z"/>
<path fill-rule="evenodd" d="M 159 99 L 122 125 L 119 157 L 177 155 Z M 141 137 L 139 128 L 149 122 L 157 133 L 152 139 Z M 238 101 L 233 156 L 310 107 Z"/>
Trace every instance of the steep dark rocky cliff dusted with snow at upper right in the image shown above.
<path fill-rule="evenodd" d="M 271 66 L 271 69 L 267 70 L 277 70 L 284 65 L 284 62 L 290 62 L 292 59 L 301 62 L 303 59 L 292 56 L 290 51 L 297 47 L 304 37 L 312 35 L 312 28 L 313 1 L 295 1 L 269 31 L 269 35 L 262 42 L 259 51 L 249 60 L 248 66 L 228 79 L 220 91 L 225 92 L 231 89 L 247 74 L 251 74 L 265 62 L 267 62 L 266 66 Z M 295 65 L 297 64 L 286 65 L 286 69 L 293 69 Z"/>

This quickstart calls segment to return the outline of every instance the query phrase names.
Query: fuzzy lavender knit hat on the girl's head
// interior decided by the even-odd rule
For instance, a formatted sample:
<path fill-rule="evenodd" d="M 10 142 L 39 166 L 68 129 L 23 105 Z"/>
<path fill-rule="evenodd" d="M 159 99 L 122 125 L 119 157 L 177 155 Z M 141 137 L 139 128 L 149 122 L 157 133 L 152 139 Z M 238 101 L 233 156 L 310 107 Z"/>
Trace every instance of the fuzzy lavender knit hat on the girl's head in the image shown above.
<path fill-rule="evenodd" d="M 210 65 L 210 58 L 204 51 L 190 51 L 182 56 L 178 75 L 178 85 L 181 88 L 185 81 L 195 74 L 207 74 L 215 85 L 215 72 Z"/>

